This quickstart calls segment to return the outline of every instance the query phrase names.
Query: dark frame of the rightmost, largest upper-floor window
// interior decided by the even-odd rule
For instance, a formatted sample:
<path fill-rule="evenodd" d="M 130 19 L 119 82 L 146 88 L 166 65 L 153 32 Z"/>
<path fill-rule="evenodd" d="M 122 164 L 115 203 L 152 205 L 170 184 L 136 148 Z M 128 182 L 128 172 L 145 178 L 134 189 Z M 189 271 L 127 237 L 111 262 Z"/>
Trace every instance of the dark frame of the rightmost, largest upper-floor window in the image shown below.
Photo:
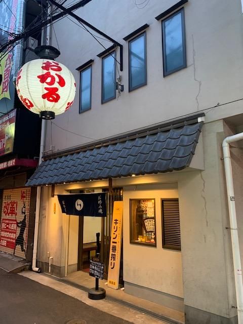
<path fill-rule="evenodd" d="M 165 22 L 174 16 L 181 13 L 181 31 L 182 31 L 182 53 L 183 53 L 183 64 L 180 67 L 177 67 L 170 72 L 166 71 L 166 35 L 165 35 Z M 163 53 L 163 73 L 164 77 L 180 71 L 187 67 L 186 65 L 186 33 L 185 33 L 185 14 L 184 14 L 184 7 L 174 12 L 172 15 L 168 16 L 167 18 L 161 21 L 161 30 L 162 30 L 162 53 Z"/>

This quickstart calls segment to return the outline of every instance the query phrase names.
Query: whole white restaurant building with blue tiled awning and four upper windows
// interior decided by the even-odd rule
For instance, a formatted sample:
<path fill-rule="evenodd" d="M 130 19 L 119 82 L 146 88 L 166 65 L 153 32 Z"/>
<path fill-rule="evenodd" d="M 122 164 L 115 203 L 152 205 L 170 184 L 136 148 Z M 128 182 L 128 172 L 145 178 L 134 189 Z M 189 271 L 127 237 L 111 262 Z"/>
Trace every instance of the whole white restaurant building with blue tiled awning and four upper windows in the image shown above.
<path fill-rule="evenodd" d="M 70 15 L 52 30 L 77 94 L 47 123 L 27 183 L 42 186 L 38 266 L 48 271 L 51 256 L 58 276 L 83 269 L 96 232 L 108 265 L 122 199 L 125 291 L 184 311 L 188 324 L 236 323 L 222 142 L 243 125 L 240 2 L 92 0 L 75 14 L 117 43 Z M 231 154 L 242 259 L 240 143 Z M 106 219 L 62 214 L 58 194 L 101 191 Z"/>

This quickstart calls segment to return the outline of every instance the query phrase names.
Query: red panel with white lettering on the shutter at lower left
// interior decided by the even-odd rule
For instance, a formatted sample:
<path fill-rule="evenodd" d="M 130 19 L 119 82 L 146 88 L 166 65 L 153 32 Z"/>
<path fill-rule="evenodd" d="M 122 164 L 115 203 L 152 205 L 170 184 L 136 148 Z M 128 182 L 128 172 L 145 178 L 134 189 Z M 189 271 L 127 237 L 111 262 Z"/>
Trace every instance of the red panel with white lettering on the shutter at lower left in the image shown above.
<path fill-rule="evenodd" d="M 4 218 L 1 224 L 0 245 L 14 250 L 17 233 L 17 220 Z"/>

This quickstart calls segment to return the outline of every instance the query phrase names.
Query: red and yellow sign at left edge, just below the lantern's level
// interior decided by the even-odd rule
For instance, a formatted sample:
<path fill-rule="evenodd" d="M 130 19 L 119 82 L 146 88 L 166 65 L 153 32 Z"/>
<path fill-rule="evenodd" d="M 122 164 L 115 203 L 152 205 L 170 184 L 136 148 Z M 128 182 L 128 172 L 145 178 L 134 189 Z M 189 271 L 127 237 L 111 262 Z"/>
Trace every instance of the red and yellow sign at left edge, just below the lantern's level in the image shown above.
<path fill-rule="evenodd" d="M 0 118 L 0 156 L 13 152 L 16 109 Z"/>

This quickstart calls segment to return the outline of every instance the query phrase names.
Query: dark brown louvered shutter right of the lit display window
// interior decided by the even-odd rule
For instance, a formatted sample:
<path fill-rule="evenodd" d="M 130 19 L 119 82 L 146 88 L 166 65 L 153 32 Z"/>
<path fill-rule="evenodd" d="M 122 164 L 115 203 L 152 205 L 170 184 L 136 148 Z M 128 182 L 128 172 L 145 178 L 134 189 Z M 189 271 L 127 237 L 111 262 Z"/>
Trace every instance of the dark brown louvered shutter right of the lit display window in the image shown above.
<path fill-rule="evenodd" d="M 181 250 L 179 199 L 161 199 L 163 248 Z"/>

